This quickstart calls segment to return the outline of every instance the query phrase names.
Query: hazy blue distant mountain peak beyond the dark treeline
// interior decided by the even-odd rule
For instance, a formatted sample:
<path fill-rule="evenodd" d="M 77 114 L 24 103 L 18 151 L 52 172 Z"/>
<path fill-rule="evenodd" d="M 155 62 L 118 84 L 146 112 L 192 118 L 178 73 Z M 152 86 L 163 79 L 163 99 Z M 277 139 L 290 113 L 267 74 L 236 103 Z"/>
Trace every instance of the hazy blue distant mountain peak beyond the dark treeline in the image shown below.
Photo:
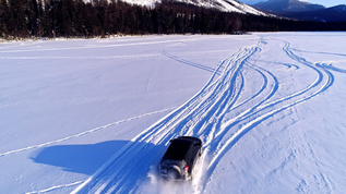
<path fill-rule="evenodd" d="M 306 0 L 269 0 L 256 3 L 253 8 L 269 13 L 305 12 L 325 9 L 321 4 L 313 4 Z"/>

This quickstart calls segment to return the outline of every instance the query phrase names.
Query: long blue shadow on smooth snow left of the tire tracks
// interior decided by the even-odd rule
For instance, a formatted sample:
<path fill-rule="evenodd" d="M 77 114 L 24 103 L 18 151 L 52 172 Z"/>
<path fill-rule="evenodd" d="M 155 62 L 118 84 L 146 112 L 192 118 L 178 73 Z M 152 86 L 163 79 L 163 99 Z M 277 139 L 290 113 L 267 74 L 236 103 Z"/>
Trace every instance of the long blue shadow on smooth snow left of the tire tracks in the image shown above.
<path fill-rule="evenodd" d="M 38 150 L 31 159 L 37 163 L 61 167 L 65 171 L 93 174 L 130 141 L 109 141 L 87 145 L 57 145 Z"/>

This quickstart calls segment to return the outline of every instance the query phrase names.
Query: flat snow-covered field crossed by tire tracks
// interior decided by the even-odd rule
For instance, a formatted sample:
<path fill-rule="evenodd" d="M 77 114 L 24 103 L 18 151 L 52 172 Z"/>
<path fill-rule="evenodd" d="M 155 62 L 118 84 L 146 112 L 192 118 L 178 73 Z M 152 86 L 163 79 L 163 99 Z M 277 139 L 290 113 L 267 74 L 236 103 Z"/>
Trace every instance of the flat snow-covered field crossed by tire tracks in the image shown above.
<path fill-rule="evenodd" d="M 2 43 L 0 193 L 345 193 L 345 99 L 346 33 Z"/>

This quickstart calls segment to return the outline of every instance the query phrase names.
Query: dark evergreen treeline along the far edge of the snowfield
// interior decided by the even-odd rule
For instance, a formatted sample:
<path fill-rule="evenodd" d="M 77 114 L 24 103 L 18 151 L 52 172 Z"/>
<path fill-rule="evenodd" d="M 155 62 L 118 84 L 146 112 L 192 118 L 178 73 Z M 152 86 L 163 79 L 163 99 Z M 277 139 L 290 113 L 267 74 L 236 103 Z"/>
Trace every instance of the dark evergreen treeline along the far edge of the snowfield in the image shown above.
<path fill-rule="evenodd" d="M 346 31 L 346 24 L 220 12 L 168 0 L 153 8 L 117 0 L 0 0 L 0 37 L 7 39 L 240 31 Z"/>

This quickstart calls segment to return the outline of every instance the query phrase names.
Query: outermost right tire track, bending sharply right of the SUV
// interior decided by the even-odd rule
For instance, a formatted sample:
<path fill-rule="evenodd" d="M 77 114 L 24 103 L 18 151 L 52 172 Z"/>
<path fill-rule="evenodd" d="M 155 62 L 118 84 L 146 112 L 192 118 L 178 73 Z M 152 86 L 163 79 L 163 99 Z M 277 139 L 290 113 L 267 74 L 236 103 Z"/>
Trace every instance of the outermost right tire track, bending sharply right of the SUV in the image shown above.
<path fill-rule="evenodd" d="M 311 68 L 312 70 L 314 70 L 317 75 L 318 75 L 317 81 L 313 82 L 312 84 L 310 84 L 303 90 L 297 92 L 297 93 L 295 93 L 293 95 L 289 95 L 289 96 L 284 97 L 282 99 L 265 104 L 265 105 L 260 106 L 260 107 L 251 107 L 250 109 L 252 109 L 252 110 L 251 111 L 247 111 L 247 112 L 251 112 L 250 114 L 241 116 L 240 119 L 236 118 L 236 119 L 234 119 L 231 121 L 228 121 L 226 124 L 224 124 L 224 125 L 226 125 L 224 128 L 228 128 L 228 129 L 226 129 L 226 130 L 223 129 L 222 131 L 226 131 L 227 132 L 234 125 L 239 123 L 240 120 L 241 121 L 249 120 L 252 116 L 258 114 L 260 112 L 260 114 L 254 117 L 252 120 L 250 120 L 249 122 L 243 123 L 241 125 L 241 128 L 239 130 L 237 130 L 236 133 L 234 133 L 229 140 L 227 140 L 220 147 L 218 147 L 216 149 L 216 151 L 214 153 L 214 156 L 213 156 L 213 158 L 212 158 L 212 160 L 210 162 L 206 177 L 210 177 L 213 173 L 214 169 L 216 168 L 216 165 L 218 163 L 220 158 L 226 154 L 226 151 L 229 150 L 231 146 L 234 146 L 244 134 L 247 134 L 249 131 L 251 131 L 255 125 L 260 124 L 264 120 L 273 117 L 274 114 L 276 114 L 278 112 L 282 112 L 282 111 L 284 111 L 284 110 L 286 110 L 288 108 L 291 108 L 291 107 L 294 107 L 296 105 L 305 102 L 305 101 L 307 101 L 307 100 L 320 95 L 321 93 L 325 92 L 329 87 L 331 87 L 333 85 L 334 76 L 333 76 L 333 74 L 331 72 L 329 72 L 325 69 L 320 70 L 320 69 L 315 68 L 311 62 L 307 61 L 305 58 L 296 56 L 290 50 L 289 43 L 286 43 L 286 45 L 285 45 L 283 50 L 287 53 L 288 57 L 290 57 L 291 59 L 296 60 L 300 64 L 307 65 L 307 66 Z M 325 77 L 324 74 L 326 74 L 327 76 Z M 317 90 L 312 90 L 313 88 L 317 88 Z M 310 90 L 312 90 L 312 92 L 310 92 Z M 309 94 L 309 92 L 311 94 Z M 289 99 L 298 98 L 298 97 L 299 97 L 299 99 L 297 99 L 297 100 L 295 100 L 293 102 L 287 102 Z M 262 101 L 262 102 L 264 102 L 264 101 Z M 286 102 L 286 105 L 285 105 L 285 102 Z M 284 105 L 282 105 L 279 108 L 274 108 L 274 106 L 277 105 L 277 104 L 284 104 Z M 270 108 L 273 108 L 273 109 L 270 110 L 269 112 L 261 113 L 261 111 L 263 111 L 264 109 L 270 109 Z M 258 110 L 254 111 L 253 109 L 254 110 L 258 109 Z M 220 144 L 218 144 L 218 145 L 220 145 Z M 206 183 L 207 183 L 207 180 L 204 180 L 204 186 L 206 185 Z"/>

